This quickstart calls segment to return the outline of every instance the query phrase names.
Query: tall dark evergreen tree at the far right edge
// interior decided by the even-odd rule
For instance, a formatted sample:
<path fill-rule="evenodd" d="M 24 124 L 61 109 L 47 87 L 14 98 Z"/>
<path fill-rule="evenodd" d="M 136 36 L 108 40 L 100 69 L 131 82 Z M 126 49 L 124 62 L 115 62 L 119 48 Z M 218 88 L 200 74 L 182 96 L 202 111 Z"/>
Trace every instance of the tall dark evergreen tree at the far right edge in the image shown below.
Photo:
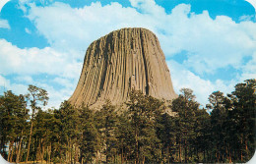
<path fill-rule="evenodd" d="M 236 129 L 236 139 L 239 143 L 236 147 L 239 162 L 248 161 L 255 151 L 256 134 L 256 81 L 247 80 L 235 85 L 235 90 L 229 95 L 233 108 L 230 112 L 232 124 Z M 239 155 L 238 155 L 239 154 Z"/>

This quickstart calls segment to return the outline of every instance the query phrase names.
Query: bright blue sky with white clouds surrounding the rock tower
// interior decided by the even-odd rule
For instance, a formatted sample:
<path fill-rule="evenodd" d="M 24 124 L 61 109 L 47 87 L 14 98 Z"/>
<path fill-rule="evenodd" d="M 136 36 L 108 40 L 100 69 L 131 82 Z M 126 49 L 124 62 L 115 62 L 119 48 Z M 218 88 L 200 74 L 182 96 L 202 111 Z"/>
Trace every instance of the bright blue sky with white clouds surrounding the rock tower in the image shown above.
<path fill-rule="evenodd" d="M 255 9 L 244 0 L 11 0 L 0 12 L 0 94 L 34 84 L 58 108 L 89 44 L 121 27 L 155 32 L 175 91 L 192 88 L 202 105 L 256 77 Z"/>

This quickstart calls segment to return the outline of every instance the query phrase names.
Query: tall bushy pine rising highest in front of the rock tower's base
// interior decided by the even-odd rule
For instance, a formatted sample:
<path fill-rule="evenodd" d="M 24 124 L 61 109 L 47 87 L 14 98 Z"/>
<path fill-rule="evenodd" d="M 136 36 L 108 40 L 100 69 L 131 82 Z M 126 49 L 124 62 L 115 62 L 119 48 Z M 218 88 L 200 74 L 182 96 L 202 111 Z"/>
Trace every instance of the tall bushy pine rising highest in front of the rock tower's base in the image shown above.
<path fill-rule="evenodd" d="M 161 113 L 162 102 L 133 90 L 127 105 L 135 137 L 135 163 L 160 162 L 161 144 L 157 136 L 156 120 Z"/>

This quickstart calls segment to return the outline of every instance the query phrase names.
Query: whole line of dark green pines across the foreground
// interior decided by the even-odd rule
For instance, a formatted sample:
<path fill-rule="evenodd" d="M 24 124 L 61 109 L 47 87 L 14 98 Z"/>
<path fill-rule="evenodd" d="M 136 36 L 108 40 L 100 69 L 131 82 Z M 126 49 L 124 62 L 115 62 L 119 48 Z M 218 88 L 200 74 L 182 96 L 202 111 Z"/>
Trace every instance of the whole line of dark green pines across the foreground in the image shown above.
<path fill-rule="evenodd" d="M 0 97 L 0 152 L 16 163 L 246 162 L 256 148 L 255 87 L 213 92 L 204 108 L 189 88 L 170 105 L 132 91 L 126 110 L 106 101 L 93 112 L 67 101 L 43 111 L 47 91 L 30 85 L 27 95 Z"/>

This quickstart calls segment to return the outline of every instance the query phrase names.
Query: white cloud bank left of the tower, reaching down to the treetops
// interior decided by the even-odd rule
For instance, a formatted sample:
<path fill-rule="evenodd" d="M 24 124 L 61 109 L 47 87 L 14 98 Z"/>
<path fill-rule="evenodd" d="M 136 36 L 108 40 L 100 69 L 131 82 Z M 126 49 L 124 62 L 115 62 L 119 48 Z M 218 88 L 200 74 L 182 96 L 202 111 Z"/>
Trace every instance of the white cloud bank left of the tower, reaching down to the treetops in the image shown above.
<path fill-rule="evenodd" d="M 82 63 L 50 47 L 20 49 L 0 39 L 0 94 L 9 89 L 16 94 L 26 94 L 28 85 L 34 84 L 48 91 L 50 99 L 46 108 L 58 107 L 73 93 L 81 69 Z M 5 78 L 7 75 L 13 80 Z M 45 80 L 38 79 L 40 75 L 44 75 Z M 55 87 L 60 84 L 61 88 Z"/>

